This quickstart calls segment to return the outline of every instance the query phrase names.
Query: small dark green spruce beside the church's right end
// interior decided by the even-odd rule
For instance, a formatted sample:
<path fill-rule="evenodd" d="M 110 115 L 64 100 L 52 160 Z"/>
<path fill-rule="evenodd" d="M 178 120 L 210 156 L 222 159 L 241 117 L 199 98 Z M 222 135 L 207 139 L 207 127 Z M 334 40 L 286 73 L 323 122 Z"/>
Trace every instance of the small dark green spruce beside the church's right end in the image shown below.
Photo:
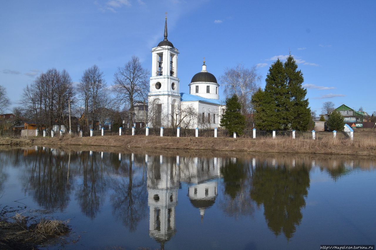
<path fill-rule="evenodd" d="M 243 134 L 246 128 L 246 117 L 241 114 L 241 104 L 237 95 L 226 99 L 226 110 L 221 118 L 221 127 L 225 127 L 230 134 Z"/>

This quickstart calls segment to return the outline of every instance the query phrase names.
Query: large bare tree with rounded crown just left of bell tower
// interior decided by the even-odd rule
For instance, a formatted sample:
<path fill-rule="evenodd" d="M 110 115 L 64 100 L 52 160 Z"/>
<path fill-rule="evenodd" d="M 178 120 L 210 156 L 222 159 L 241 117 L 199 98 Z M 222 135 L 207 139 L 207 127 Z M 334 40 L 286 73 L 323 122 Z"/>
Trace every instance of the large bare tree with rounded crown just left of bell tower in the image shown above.
<path fill-rule="evenodd" d="M 129 111 L 133 114 L 134 103 L 136 101 L 145 101 L 147 92 L 149 71 L 144 69 L 137 56 L 132 58 L 123 67 L 118 67 L 114 75 L 113 90 L 116 99 L 121 104 L 129 104 Z M 130 116 L 130 123 L 133 123 L 133 116 Z"/>

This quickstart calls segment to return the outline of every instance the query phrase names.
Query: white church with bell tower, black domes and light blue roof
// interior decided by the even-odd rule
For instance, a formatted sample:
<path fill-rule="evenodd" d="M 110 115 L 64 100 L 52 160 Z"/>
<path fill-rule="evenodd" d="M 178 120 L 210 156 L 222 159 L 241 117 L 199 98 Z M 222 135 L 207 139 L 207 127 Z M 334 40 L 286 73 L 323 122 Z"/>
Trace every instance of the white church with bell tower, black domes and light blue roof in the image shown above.
<path fill-rule="evenodd" d="M 195 74 L 191 83 L 188 84 L 190 93 L 179 92 L 179 78 L 177 77 L 179 51 L 167 39 L 167 17 L 165 18 L 164 39 L 157 47 L 152 48 L 151 52 L 149 117 L 157 119 L 158 125 L 171 127 L 173 119 L 178 120 L 182 115 L 177 110 L 181 111 L 190 106 L 191 110 L 196 113 L 195 119 L 189 123 L 190 128 L 203 128 L 203 123 L 205 123 L 205 128 L 219 127 L 224 105 L 221 105 L 219 100 L 217 79 L 206 70 L 205 60 L 202 71 Z M 151 106 L 155 107 L 153 114 Z"/>

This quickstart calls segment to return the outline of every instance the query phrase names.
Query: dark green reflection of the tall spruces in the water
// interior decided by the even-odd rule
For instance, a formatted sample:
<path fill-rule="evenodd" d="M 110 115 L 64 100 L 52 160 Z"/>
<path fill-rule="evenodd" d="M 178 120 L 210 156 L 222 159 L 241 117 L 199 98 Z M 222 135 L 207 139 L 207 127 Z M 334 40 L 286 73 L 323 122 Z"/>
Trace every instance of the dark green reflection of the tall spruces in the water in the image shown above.
<path fill-rule="evenodd" d="M 257 166 L 252 175 L 250 195 L 257 205 L 264 205 L 268 227 L 290 239 L 302 220 L 300 209 L 308 194 L 309 169 L 285 166 Z"/>

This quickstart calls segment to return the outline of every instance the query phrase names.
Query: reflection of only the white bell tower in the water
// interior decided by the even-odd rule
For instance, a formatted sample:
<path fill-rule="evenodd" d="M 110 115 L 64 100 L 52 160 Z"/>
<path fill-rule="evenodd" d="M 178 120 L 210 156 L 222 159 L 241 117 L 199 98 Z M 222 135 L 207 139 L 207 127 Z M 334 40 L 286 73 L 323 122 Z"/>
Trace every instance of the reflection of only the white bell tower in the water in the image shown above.
<path fill-rule="evenodd" d="M 149 235 L 164 248 L 175 234 L 175 207 L 179 169 L 171 158 L 148 157 L 147 191 L 150 208 Z"/>

